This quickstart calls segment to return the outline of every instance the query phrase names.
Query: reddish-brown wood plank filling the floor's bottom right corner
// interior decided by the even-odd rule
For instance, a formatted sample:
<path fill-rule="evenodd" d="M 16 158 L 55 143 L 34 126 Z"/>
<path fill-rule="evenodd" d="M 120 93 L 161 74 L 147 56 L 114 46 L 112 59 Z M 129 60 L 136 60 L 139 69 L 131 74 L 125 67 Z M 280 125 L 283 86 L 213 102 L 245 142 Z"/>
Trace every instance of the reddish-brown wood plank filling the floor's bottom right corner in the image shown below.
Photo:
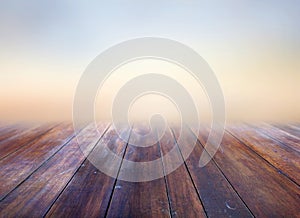
<path fill-rule="evenodd" d="M 201 130 L 201 143 L 208 131 Z M 299 186 L 227 132 L 221 146 L 214 160 L 255 216 L 300 216 Z"/>

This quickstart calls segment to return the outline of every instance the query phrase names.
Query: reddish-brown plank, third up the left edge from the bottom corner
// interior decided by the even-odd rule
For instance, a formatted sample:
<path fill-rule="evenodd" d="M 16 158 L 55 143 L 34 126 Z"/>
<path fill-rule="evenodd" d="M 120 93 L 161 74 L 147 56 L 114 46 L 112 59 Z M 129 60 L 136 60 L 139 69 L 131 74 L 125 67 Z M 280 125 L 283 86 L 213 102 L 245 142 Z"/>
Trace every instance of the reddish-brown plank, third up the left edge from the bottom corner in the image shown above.
<path fill-rule="evenodd" d="M 37 126 L 27 131 L 20 129 L 14 136 L 0 142 L 0 160 L 21 149 L 23 146 L 27 146 L 29 143 L 38 140 L 40 136 L 46 134 L 55 126 L 57 124 Z"/>

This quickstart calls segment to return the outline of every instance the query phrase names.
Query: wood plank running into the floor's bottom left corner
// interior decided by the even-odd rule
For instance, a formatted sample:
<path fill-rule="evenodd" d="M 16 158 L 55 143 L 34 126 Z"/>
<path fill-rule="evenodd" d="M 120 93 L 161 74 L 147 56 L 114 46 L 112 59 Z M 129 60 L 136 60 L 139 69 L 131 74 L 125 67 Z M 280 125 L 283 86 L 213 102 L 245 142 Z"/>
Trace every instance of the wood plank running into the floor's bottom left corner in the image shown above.
<path fill-rule="evenodd" d="M 105 125 L 99 129 L 103 132 Z M 1 216 L 44 216 L 84 161 L 85 156 L 81 149 L 85 152 L 91 151 L 100 136 L 89 127 L 81 131 L 78 135 L 84 139 L 81 147 L 79 148 L 77 139 L 73 138 L 45 162 L 0 203 Z"/>

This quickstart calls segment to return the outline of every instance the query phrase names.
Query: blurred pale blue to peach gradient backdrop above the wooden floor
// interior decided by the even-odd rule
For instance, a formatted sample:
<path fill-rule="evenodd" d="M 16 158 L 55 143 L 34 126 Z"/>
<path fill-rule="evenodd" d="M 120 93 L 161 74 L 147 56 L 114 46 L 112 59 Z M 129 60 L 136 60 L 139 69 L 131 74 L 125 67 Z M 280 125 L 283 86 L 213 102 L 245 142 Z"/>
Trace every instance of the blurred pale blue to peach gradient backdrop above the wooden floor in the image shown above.
<path fill-rule="evenodd" d="M 300 121 L 299 21 L 296 0 L 3 0 L 0 120 L 72 119 L 76 84 L 93 58 L 155 36 L 185 43 L 210 64 L 228 122 Z"/>

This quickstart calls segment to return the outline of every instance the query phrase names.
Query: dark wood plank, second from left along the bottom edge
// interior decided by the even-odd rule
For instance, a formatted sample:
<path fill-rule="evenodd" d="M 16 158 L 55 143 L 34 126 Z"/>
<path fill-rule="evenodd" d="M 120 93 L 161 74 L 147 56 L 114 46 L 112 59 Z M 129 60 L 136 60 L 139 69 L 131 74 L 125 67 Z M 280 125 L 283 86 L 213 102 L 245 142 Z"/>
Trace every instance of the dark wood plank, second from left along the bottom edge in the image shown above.
<path fill-rule="evenodd" d="M 125 131 L 128 138 L 129 130 Z M 99 151 L 109 148 L 122 157 L 126 142 L 120 140 L 116 131 L 110 128 L 97 148 Z M 99 171 L 88 159 L 85 160 L 47 217 L 104 217 L 115 180 Z"/>

